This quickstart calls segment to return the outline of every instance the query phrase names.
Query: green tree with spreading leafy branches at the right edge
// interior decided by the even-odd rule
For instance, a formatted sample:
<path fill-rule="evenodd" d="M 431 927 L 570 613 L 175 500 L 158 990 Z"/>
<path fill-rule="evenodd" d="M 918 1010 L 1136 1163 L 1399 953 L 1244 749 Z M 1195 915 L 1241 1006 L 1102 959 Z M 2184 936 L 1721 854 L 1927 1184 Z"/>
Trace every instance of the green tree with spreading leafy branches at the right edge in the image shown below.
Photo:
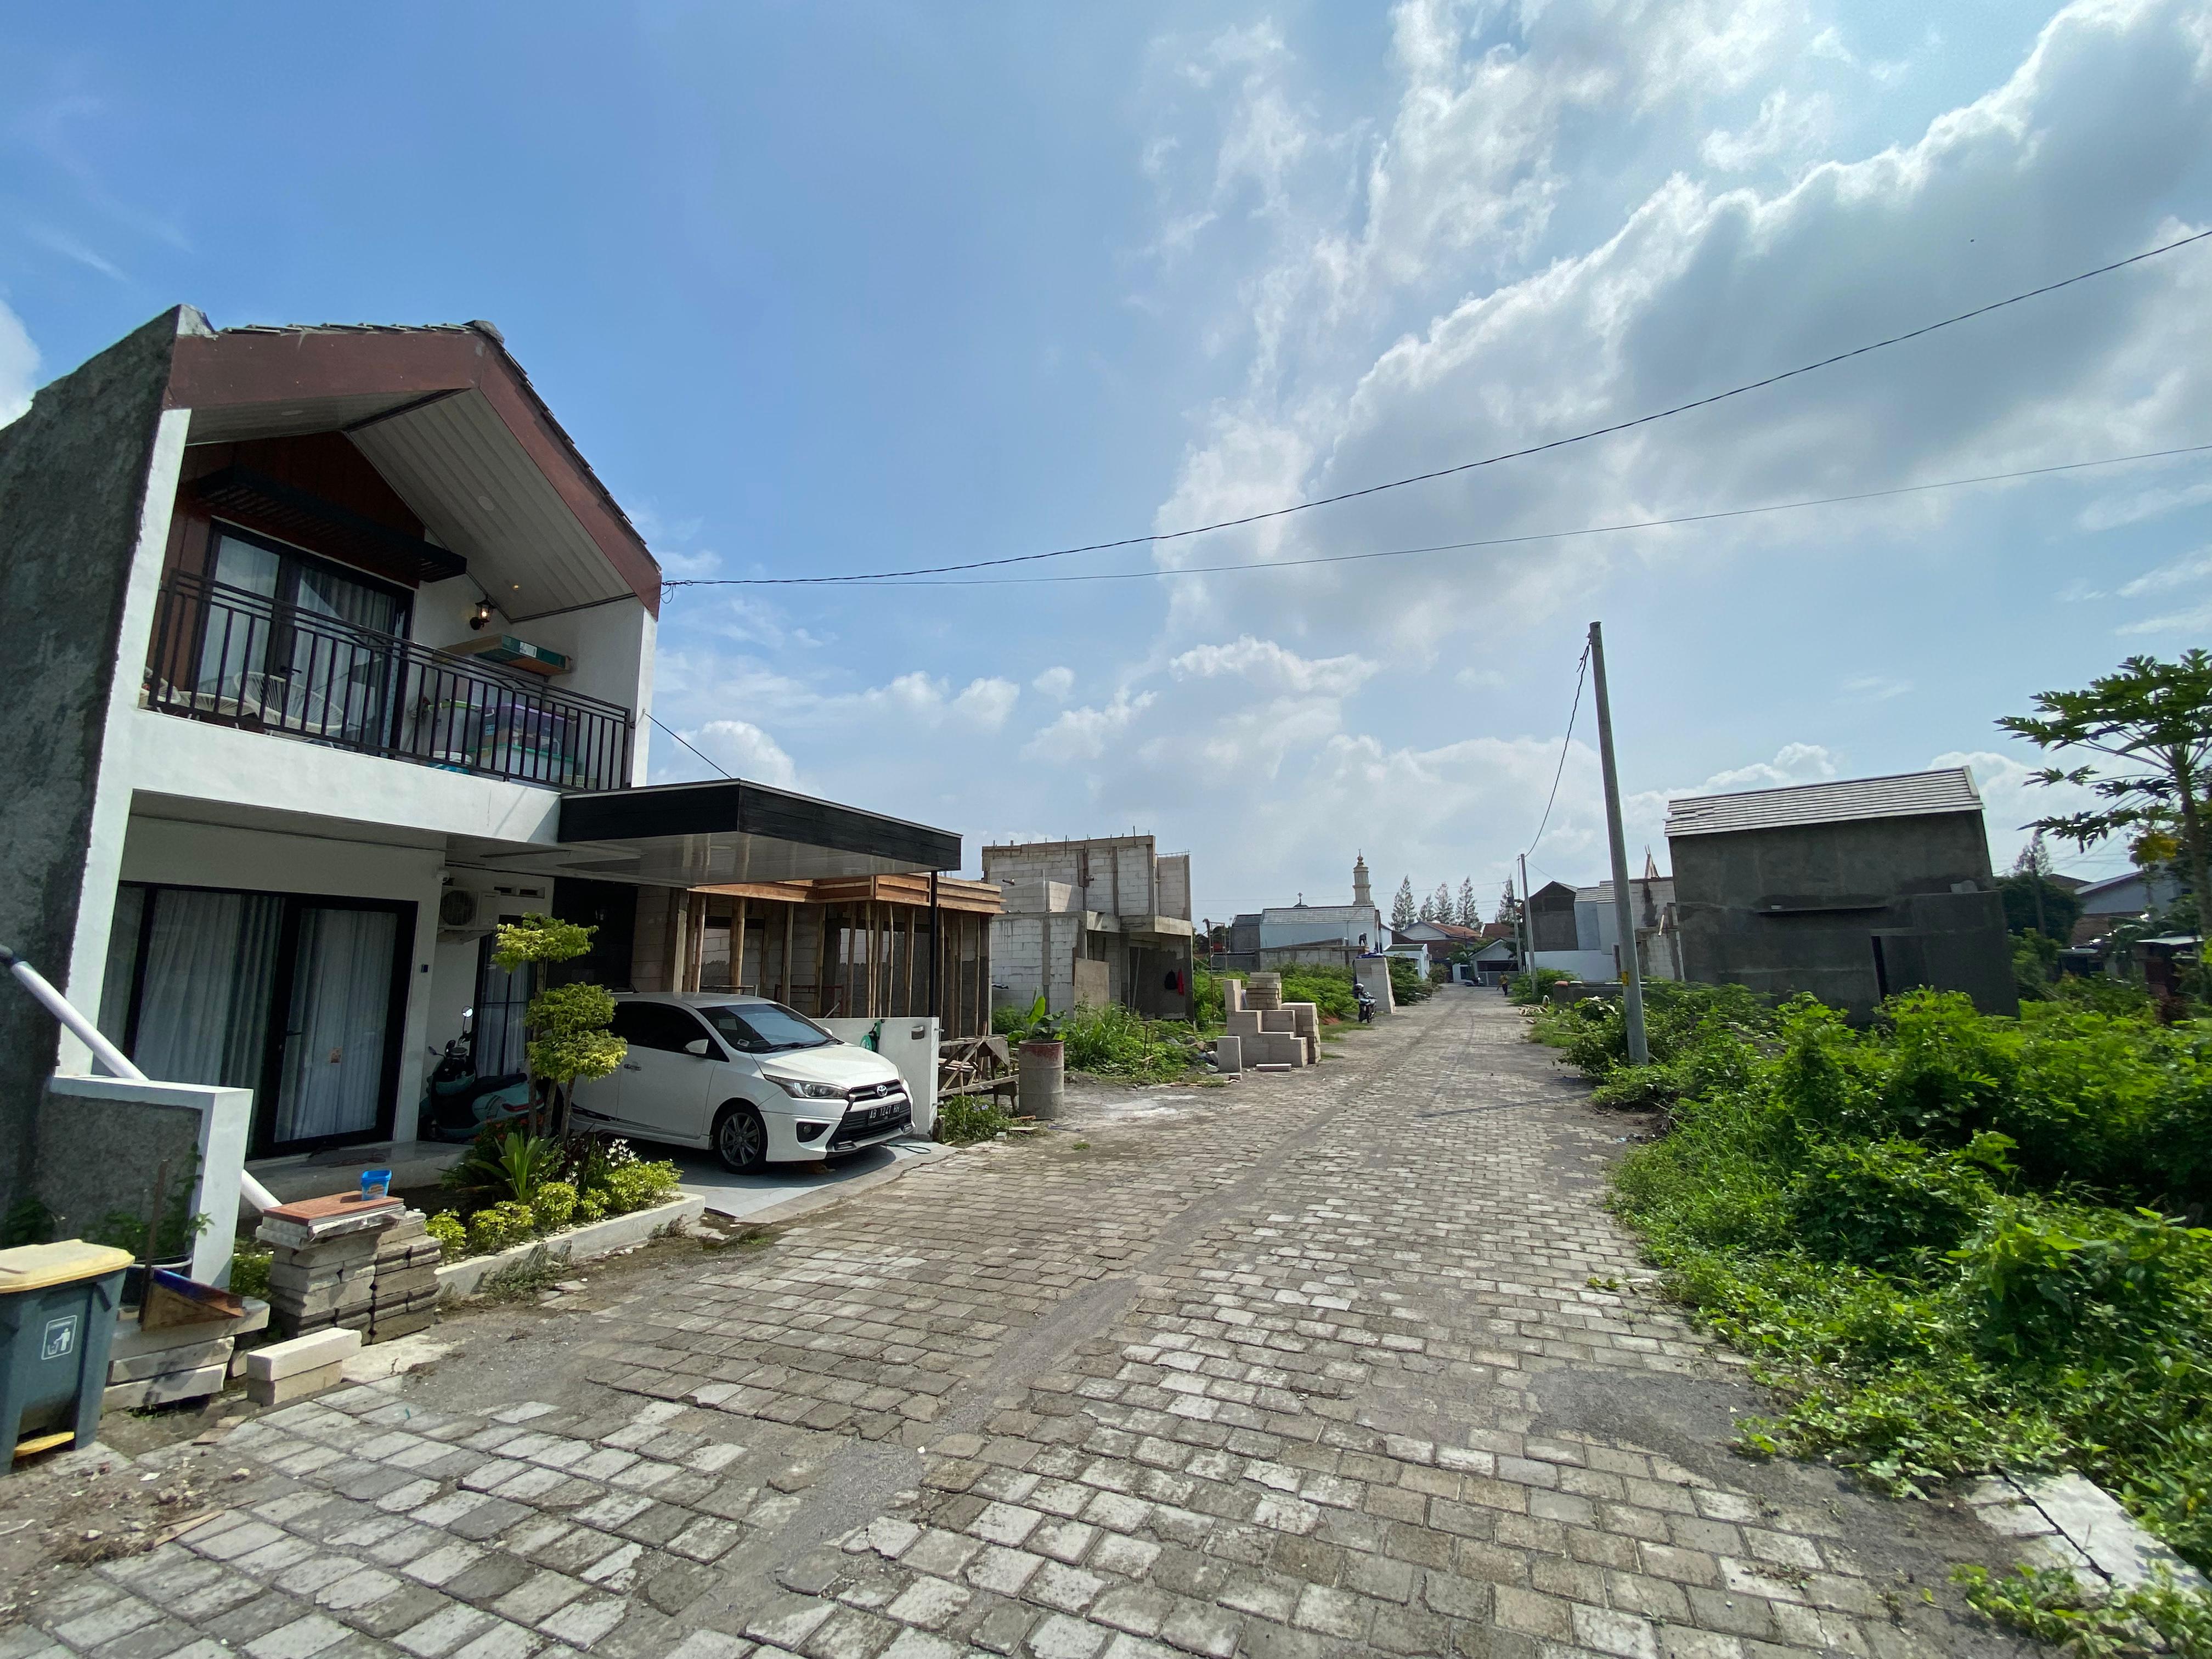
<path fill-rule="evenodd" d="M 2146 849 L 2172 843 L 2190 885 L 2197 931 L 2212 938 L 2212 847 L 2205 843 L 2205 757 L 2212 750 L 2212 655 L 2179 661 L 2128 657 L 2086 690 L 2042 692 L 2033 714 L 2006 714 L 2004 730 L 2042 750 L 2095 750 L 2106 763 L 2051 765 L 2037 783 L 2086 785 L 2101 805 L 2037 818 L 2084 852 L 2112 834 Z"/>

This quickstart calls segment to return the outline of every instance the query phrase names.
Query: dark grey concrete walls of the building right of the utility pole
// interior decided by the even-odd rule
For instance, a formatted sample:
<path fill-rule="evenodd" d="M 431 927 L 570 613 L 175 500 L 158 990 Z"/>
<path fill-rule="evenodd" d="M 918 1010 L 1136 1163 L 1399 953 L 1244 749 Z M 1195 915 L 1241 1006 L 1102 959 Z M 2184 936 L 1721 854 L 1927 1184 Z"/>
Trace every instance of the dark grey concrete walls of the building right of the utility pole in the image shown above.
<path fill-rule="evenodd" d="M 2017 1013 L 1982 814 L 1745 830 L 1668 843 L 1686 980 L 1809 991 L 1851 1020 L 1911 984 Z M 1953 891 L 1966 887 L 1966 891 Z"/>

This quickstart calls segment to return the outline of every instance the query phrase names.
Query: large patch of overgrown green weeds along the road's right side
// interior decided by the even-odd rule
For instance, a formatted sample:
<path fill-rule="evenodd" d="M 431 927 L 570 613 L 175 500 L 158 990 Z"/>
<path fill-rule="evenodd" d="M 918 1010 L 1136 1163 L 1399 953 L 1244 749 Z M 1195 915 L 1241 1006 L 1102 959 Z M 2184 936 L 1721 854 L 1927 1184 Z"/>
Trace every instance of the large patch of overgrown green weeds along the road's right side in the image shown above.
<path fill-rule="evenodd" d="M 1907 1495 L 2073 1467 L 2212 1566 L 2212 1026 L 1672 987 L 1630 1068 L 1617 1006 L 1573 1020 L 1537 1024 L 1670 1115 L 1615 1208 L 1778 1391 L 1745 1449 Z"/>

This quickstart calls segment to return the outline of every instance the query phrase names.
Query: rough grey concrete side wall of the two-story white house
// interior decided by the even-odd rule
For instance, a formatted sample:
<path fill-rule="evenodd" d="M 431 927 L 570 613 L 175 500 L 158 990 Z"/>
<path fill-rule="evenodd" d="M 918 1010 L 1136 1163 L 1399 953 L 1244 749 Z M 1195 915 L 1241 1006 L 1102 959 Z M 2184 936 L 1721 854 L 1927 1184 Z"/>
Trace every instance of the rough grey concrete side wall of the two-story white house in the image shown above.
<path fill-rule="evenodd" d="M 62 982 L 91 845 L 131 557 L 177 312 L 40 389 L 0 427 L 0 942 Z M 31 1175 L 53 1020 L 0 987 L 0 1210 Z"/>

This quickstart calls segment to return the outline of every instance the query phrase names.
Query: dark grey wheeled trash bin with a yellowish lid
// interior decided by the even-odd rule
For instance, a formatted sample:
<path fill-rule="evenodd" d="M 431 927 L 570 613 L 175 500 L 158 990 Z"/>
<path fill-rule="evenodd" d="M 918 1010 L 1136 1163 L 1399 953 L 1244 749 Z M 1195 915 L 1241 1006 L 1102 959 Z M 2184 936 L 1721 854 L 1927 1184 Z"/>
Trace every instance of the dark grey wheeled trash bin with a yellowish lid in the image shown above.
<path fill-rule="evenodd" d="M 128 1265 L 128 1250 L 82 1239 L 0 1250 L 0 1444 L 13 1458 L 93 1442 Z"/>

